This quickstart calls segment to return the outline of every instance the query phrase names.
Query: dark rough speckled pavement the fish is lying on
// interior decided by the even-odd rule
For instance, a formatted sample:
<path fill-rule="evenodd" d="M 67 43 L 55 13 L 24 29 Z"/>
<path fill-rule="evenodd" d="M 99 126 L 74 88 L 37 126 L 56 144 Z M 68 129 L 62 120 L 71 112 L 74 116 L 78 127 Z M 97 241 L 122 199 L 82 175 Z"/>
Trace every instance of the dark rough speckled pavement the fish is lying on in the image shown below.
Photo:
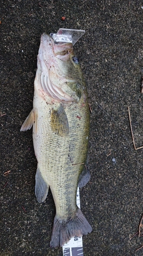
<path fill-rule="evenodd" d="M 61 17 L 66 16 L 65 20 Z M 85 256 L 142 256 L 143 73 L 141 1 L 2 1 L 0 255 L 61 256 L 49 248 L 55 206 L 35 198 L 32 131 L 20 132 L 32 109 L 42 32 L 85 29 L 75 44 L 91 104 L 89 170 L 81 209 L 93 231 Z M 132 237 L 134 234 L 136 236 Z M 131 238 L 131 239 L 130 239 Z"/>

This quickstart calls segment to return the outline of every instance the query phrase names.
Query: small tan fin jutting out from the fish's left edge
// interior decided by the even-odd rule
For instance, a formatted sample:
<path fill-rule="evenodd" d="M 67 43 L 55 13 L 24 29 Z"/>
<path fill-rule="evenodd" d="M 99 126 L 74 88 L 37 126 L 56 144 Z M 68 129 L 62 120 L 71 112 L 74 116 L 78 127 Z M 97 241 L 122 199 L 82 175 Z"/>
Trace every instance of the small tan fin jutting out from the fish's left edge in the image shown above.
<path fill-rule="evenodd" d="M 21 126 L 20 131 L 27 131 L 27 129 L 31 129 L 34 122 L 36 125 L 36 119 L 37 119 L 37 111 L 36 109 L 32 109 L 29 116 L 27 116 L 26 120 Z"/>

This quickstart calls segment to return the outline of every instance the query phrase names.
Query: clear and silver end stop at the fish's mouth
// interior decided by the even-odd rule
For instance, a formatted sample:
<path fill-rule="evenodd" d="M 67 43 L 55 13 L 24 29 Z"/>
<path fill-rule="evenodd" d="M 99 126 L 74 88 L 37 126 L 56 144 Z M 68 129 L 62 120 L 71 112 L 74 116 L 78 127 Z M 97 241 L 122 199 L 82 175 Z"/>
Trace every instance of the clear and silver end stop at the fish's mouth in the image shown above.
<path fill-rule="evenodd" d="M 60 28 L 57 34 L 51 33 L 50 37 L 54 39 L 55 43 L 72 43 L 74 45 L 83 34 L 85 34 L 85 30 Z"/>

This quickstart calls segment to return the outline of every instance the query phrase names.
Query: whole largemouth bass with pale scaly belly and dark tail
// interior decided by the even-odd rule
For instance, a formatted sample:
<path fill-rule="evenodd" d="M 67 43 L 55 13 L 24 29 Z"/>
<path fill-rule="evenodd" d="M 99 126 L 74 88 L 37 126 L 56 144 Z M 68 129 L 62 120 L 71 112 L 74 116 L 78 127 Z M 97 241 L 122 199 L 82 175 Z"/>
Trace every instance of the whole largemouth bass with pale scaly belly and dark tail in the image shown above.
<path fill-rule="evenodd" d="M 42 203 L 51 189 L 56 213 L 50 246 L 57 247 L 92 231 L 76 205 L 77 186 L 90 179 L 90 119 L 86 83 L 71 43 L 41 35 L 34 88 L 33 109 L 20 131 L 33 126 L 35 195 Z"/>

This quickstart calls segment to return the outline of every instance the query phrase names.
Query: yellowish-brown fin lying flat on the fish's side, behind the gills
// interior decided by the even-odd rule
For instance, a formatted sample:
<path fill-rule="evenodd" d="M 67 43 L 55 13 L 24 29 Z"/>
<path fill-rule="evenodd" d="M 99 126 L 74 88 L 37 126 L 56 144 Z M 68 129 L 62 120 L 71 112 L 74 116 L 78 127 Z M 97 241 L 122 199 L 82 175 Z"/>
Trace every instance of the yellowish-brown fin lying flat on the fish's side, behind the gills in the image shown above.
<path fill-rule="evenodd" d="M 69 121 L 62 105 L 51 110 L 51 129 L 61 136 L 69 134 Z"/>

